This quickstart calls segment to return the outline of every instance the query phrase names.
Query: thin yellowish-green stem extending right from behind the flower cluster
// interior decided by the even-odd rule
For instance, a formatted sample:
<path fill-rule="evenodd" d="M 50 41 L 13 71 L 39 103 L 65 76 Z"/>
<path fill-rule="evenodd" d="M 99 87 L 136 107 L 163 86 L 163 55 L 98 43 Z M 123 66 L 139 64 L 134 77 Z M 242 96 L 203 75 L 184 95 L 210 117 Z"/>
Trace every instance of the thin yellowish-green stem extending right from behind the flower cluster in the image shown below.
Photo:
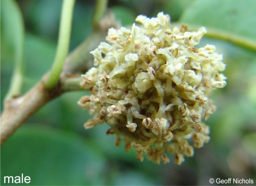
<path fill-rule="evenodd" d="M 172 27 L 177 26 L 180 27 L 181 23 L 172 23 Z M 196 25 L 188 25 L 189 31 L 197 31 L 200 26 Z M 240 36 L 237 34 L 230 33 L 228 31 L 223 31 L 215 28 L 206 27 L 207 33 L 205 34 L 206 37 L 220 39 L 228 41 L 232 44 L 240 46 L 244 49 L 256 52 L 256 41 L 249 39 L 244 36 Z"/>

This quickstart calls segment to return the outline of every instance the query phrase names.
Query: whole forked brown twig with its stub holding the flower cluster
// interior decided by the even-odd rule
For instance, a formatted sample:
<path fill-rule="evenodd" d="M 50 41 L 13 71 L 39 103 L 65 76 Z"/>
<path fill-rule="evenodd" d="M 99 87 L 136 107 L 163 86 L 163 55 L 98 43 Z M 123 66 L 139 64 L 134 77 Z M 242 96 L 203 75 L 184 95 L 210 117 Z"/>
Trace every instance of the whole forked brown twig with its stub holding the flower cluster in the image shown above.
<path fill-rule="evenodd" d="M 74 0 L 65 0 L 65 1 L 71 2 Z M 111 26 L 111 24 L 115 25 L 115 23 L 113 22 L 113 23 L 110 23 L 109 26 Z M 104 40 L 104 37 L 105 37 L 104 35 L 106 35 L 106 32 L 107 30 L 100 29 L 98 33 L 92 34 L 86 39 L 84 43 L 79 45 L 78 48 L 75 49 L 75 52 L 72 53 L 66 59 L 67 68 L 66 70 L 64 70 L 64 73 L 62 73 L 61 77 L 59 77 L 58 73 L 61 73 L 62 67 L 61 68 L 54 67 L 53 65 L 53 69 L 57 69 L 57 70 L 53 70 L 54 71 L 53 75 L 51 75 L 51 73 L 45 75 L 44 78 L 38 84 L 36 84 L 33 88 L 31 88 L 24 96 L 19 98 L 10 98 L 9 100 L 7 100 L 5 104 L 5 109 L 1 115 L 1 146 L 19 128 L 19 126 L 21 126 L 28 118 L 30 118 L 33 114 L 35 114 L 46 103 L 60 96 L 64 92 L 81 90 L 81 87 L 79 85 L 80 78 L 68 78 L 66 75 L 72 73 L 73 70 L 77 70 L 76 65 L 80 66 L 82 63 L 86 63 L 86 61 L 89 60 L 88 58 L 88 55 L 90 55 L 89 51 L 91 50 L 91 48 L 93 50 L 99 44 L 97 43 L 97 45 L 94 46 L 95 45 L 94 37 L 96 37 L 97 38 L 96 40 L 100 42 L 101 40 Z M 67 36 L 62 35 L 62 37 L 67 37 Z M 66 46 L 67 45 L 69 44 L 66 43 Z M 58 47 L 60 47 L 60 44 L 58 44 Z M 63 56 L 61 57 L 63 58 Z M 75 66 L 72 66 L 73 62 L 76 64 Z M 59 62 L 57 62 L 57 66 L 59 64 L 62 65 L 62 63 L 63 63 L 62 60 L 59 60 Z M 71 65 L 72 67 L 70 68 L 69 65 Z M 49 78 L 49 76 L 54 76 L 53 80 L 52 78 Z M 47 83 L 48 84 L 47 87 L 45 86 L 46 79 L 50 79 L 49 84 Z"/>

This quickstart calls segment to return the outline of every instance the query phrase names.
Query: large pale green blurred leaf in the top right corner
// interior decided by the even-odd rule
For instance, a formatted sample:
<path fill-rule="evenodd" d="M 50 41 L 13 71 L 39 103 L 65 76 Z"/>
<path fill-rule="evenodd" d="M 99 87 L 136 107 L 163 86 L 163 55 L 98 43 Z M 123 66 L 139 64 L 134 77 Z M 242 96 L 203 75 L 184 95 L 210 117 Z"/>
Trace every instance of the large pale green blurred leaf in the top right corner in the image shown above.
<path fill-rule="evenodd" d="M 254 0 L 197 0 L 186 9 L 180 22 L 218 28 L 256 40 Z"/>

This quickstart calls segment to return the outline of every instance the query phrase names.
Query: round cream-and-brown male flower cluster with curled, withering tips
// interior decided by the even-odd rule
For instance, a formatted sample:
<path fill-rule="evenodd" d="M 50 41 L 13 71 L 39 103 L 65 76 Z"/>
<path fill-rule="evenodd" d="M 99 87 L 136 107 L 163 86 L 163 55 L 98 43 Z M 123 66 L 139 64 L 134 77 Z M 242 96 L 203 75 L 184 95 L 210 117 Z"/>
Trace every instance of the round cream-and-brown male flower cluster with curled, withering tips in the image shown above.
<path fill-rule="evenodd" d="M 78 104 L 94 117 L 85 123 L 91 128 L 105 121 L 107 134 L 116 134 L 125 150 L 134 148 L 137 158 L 169 162 L 174 153 L 180 164 L 209 140 L 205 120 L 215 110 L 209 99 L 215 88 L 226 85 L 222 56 L 213 45 L 197 49 L 204 27 L 188 32 L 187 26 L 170 28 L 170 17 L 138 16 L 132 29 L 110 28 L 106 42 L 91 52 L 94 66 L 82 75 L 81 85 L 91 96 Z"/>

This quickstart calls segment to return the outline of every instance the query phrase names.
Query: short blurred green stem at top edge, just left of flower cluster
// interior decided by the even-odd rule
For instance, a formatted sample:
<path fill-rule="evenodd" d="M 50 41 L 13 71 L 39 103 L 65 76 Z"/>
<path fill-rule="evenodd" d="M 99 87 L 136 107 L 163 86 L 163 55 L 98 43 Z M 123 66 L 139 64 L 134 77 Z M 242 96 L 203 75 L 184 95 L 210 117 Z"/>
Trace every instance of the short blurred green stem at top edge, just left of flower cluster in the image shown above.
<path fill-rule="evenodd" d="M 100 22 L 106 12 L 108 6 L 108 0 L 97 0 L 93 17 L 92 17 L 92 29 L 93 31 L 98 30 L 100 27 Z"/>

